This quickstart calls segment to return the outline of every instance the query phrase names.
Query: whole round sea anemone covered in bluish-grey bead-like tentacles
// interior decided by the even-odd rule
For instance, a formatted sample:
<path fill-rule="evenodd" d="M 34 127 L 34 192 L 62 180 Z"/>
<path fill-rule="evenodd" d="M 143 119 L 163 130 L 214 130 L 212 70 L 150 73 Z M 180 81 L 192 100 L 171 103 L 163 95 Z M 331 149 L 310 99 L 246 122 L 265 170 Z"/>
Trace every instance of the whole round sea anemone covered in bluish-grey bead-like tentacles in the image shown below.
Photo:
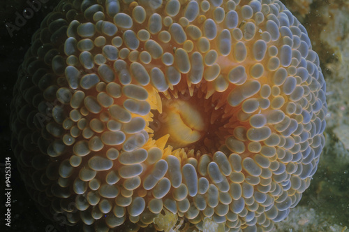
<path fill-rule="evenodd" d="M 280 1 L 61 1 L 19 77 L 23 178 L 84 231 L 161 229 L 162 212 L 270 231 L 325 142 L 318 55 Z"/>

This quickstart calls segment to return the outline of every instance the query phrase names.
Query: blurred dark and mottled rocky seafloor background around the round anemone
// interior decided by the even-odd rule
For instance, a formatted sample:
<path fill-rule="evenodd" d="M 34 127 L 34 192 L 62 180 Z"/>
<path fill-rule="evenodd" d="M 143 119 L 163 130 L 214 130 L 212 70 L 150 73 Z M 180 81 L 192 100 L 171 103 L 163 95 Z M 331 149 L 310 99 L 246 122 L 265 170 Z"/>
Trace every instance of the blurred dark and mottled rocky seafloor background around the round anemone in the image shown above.
<path fill-rule="evenodd" d="M 274 231 L 343 231 L 349 227 L 349 0 L 281 0 L 306 27 L 318 52 L 327 82 L 326 145 L 318 171 L 302 201 Z M 17 173 L 10 150 L 8 115 L 17 67 L 30 46 L 31 34 L 57 0 L 47 0 L 24 27 L 8 35 L 6 22 L 27 7 L 26 1 L 0 2 L 0 168 L 11 157 L 13 187 L 11 227 L 6 231 L 54 231 L 51 222 L 36 209 Z M 3 175 L 1 175 L 3 176 Z M 1 179 L 3 181 L 3 178 Z M 1 184 L 2 186 L 2 184 Z M 3 196 L 3 193 L 1 193 Z M 2 213 L 2 212 L 1 212 Z M 2 218 L 2 217 L 1 217 Z M 1 222 L 3 225 L 3 222 Z M 1 226 L 2 227 L 2 226 Z M 47 230 L 48 229 L 48 230 Z"/>

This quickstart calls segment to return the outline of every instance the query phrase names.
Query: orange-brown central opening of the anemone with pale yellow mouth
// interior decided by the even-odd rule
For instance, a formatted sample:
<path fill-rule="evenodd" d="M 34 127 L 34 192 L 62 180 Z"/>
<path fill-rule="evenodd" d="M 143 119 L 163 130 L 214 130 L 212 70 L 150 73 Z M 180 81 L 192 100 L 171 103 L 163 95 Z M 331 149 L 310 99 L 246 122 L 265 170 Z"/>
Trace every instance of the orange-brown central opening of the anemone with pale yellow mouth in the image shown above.
<path fill-rule="evenodd" d="M 166 145 L 174 150 L 186 148 L 214 154 L 225 144 L 237 121 L 228 103 L 218 101 L 221 94 L 213 94 L 208 99 L 205 95 L 202 87 L 195 88 L 192 93 L 188 89 L 176 95 L 170 91 L 161 93 L 161 110 L 151 111 L 154 116 L 149 127 L 154 137 L 150 137 L 156 140 L 168 135 Z"/>

